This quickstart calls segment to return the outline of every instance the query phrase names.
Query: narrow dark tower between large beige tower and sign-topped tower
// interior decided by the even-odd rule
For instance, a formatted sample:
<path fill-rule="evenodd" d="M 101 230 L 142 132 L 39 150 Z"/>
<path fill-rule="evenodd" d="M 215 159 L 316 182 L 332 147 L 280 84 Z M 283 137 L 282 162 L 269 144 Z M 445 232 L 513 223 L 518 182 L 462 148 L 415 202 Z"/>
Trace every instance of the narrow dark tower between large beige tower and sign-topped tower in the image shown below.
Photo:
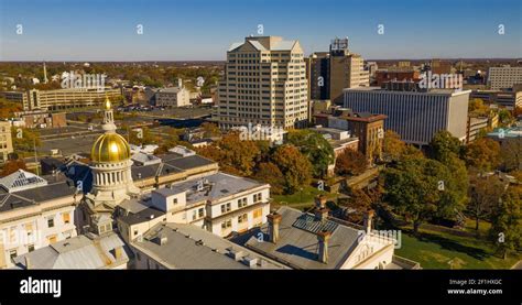
<path fill-rule="evenodd" d="M 308 79 L 308 99 L 325 100 L 330 97 L 329 53 L 317 52 L 305 58 L 306 79 Z"/>

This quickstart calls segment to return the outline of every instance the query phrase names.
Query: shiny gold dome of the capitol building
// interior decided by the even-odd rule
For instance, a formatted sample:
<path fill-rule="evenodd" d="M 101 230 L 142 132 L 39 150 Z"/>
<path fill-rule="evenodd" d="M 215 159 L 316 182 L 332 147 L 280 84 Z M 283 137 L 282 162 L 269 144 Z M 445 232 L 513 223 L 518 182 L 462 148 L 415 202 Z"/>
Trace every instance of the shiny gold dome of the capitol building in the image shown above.
<path fill-rule="evenodd" d="M 117 163 L 130 159 L 130 146 L 118 133 L 105 133 L 96 140 L 90 152 L 94 162 Z"/>

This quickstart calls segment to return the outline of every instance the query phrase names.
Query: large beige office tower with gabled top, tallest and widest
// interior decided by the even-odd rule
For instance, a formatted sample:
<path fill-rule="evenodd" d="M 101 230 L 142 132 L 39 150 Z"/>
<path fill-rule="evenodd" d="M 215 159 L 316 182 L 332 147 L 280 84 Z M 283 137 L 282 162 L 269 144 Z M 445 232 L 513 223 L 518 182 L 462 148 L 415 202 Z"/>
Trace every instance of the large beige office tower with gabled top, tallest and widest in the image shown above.
<path fill-rule="evenodd" d="M 298 41 L 250 36 L 227 52 L 215 121 L 222 129 L 298 128 L 308 120 L 308 86 Z"/>

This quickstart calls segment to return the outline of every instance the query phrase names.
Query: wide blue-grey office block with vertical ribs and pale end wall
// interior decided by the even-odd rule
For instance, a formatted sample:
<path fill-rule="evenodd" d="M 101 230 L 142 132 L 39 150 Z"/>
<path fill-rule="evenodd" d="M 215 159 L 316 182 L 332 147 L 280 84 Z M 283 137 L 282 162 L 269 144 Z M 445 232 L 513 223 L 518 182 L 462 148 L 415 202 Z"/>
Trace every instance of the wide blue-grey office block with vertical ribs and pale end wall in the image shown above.
<path fill-rule="evenodd" d="M 447 130 L 466 140 L 470 90 L 387 90 L 380 87 L 345 90 L 345 107 L 356 112 L 388 116 L 384 128 L 398 132 L 406 143 L 426 145 Z"/>

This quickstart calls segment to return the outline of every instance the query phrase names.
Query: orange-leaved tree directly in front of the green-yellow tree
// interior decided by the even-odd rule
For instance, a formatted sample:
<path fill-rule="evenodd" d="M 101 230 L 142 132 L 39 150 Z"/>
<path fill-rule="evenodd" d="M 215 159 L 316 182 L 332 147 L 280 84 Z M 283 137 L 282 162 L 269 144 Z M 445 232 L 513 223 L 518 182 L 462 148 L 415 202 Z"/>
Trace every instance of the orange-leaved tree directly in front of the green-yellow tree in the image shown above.
<path fill-rule="evenodd" d="M 283 173 L 285 193 L 293 194 L 298 187 L 309 184 L 313 167 L 297 148 L 279 146 L 272 155 L 272 161 Z"/>

